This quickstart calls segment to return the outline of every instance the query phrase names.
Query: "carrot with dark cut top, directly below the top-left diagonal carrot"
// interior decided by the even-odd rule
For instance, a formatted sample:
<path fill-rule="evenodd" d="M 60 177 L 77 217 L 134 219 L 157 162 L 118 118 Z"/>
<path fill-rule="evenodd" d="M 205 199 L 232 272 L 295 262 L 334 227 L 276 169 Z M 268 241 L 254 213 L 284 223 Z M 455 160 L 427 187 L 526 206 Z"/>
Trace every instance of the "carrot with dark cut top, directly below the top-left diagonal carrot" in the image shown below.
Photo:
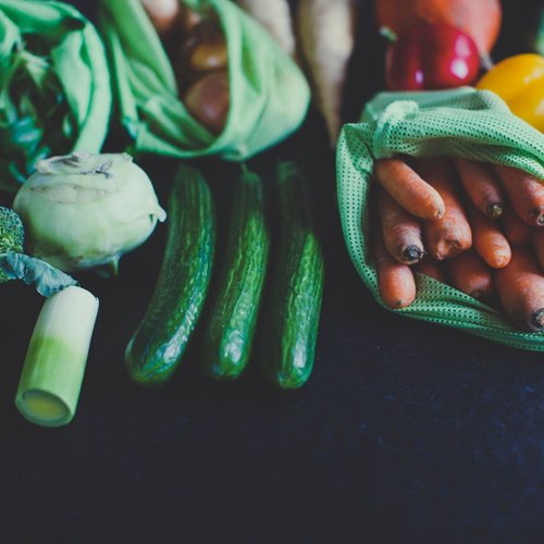
<path fill-rule="evenodd" d="M 413 264 L 424 255 L 421 226 L 385 190 L 376 186 L 378 208 L 385 246 L 398 262 Z"/>

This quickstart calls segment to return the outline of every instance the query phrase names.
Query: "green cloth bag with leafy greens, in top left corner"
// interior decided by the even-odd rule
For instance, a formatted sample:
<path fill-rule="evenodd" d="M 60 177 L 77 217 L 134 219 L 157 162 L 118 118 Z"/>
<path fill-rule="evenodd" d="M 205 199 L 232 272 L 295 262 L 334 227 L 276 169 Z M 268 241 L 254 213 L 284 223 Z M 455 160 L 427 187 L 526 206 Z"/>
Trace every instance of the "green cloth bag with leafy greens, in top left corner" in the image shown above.
<path fill-rule="evenodd" d="M 75 8 L 0 0 L 0 188 L 51 154 L 99 152 L 112 92 L 100 36 Z"/>

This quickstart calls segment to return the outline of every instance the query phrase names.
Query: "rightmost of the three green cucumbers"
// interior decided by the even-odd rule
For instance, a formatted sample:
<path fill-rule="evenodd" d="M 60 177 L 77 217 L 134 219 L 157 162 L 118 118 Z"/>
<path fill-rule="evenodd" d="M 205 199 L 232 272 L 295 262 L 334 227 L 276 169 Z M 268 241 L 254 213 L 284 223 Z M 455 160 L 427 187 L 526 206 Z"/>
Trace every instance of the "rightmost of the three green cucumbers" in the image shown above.
<path fill-rule="evenodd" d="M 295 163 L 280 163 L 274 267 L 267 281 L 262 329 L 259 324 L 259 359 L 265 376 L 284 390 L 300 387 L 310 378 L 323 296 L 323 252 L 305 184 Z"/>

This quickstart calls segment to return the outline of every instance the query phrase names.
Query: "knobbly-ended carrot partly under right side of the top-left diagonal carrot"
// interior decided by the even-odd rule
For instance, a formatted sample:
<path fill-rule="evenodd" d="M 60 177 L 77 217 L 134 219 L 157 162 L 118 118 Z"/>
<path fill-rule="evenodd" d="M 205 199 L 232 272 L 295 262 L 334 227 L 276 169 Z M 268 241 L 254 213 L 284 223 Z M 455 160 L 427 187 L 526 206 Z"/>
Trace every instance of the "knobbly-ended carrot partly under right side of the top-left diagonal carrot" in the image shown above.
<path fill-rule="evenodd" d="M 456 193 L 454 171 L 444 159 L 419 159 L 416 164 L 419 174 L 438 191 L 446 206 L 441 219 L 424 222 L 425 247 L 438 261 L 455 257 L 472 246 L 472 232 Z"/>

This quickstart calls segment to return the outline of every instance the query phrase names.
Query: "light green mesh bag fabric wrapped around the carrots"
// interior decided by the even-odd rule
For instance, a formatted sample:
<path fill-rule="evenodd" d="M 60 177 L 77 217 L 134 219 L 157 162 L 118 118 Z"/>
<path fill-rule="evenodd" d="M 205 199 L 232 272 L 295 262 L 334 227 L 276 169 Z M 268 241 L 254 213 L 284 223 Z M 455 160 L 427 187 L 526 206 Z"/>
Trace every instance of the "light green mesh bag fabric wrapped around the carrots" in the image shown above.
<path fill-rule="evenodd" d="M 368 251 L 367 202 L 373 161 L 397 153 L 465 157 L 523 169 L 544 180 L 544 135 L 512 115 L 493 92 L 462 87 L 379 94 L 364 108 L 360 123 L 343 127 L 336 175 L 349 255 L 364 284 L 385 308 Z M 500 311 L 453 287 L 423 274 L 417 274 L 417 287 L 415 302 L 392 311 L 508 346 L 544 350 L 544 334 L 515 329 Z"/>

